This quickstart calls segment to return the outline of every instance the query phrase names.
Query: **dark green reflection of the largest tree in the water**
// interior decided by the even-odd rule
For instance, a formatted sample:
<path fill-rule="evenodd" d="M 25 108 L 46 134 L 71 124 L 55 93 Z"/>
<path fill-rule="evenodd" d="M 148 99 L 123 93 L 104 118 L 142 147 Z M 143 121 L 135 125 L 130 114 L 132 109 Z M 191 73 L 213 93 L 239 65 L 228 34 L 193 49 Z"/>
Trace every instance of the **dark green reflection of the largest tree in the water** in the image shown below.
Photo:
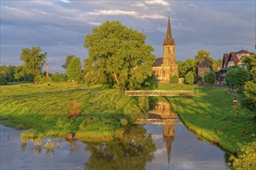
<path fill-rule="evenodd" d="M 143 126 L 133 126 L 123 138 L 106 143 L 88 143 L 91 151 L 85 169 L 144 169 L 156 150 L 151 135 Z"/>

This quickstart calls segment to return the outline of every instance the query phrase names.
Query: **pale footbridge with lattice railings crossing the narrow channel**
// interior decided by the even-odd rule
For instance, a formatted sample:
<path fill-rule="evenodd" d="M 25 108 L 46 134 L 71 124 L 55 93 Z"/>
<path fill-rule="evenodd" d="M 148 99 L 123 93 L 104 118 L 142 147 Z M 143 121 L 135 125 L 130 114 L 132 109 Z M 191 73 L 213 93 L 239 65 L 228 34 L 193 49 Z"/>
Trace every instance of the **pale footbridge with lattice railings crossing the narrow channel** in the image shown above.
<path fill-rule="evenodd" d="M 126 90 L 126 96 L 192 96 L 192 90 Z"/>

